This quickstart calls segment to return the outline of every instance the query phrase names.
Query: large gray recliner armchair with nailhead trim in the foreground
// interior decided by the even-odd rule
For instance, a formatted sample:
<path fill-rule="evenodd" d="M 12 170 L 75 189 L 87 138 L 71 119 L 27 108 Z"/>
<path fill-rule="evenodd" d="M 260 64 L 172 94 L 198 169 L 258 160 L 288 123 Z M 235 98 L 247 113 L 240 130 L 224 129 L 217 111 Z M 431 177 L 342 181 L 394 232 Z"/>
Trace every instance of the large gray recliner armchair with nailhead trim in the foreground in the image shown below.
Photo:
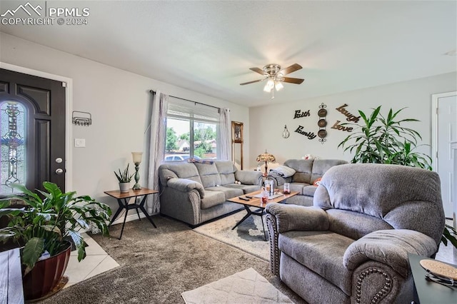
<path fill-rule="evenodd" d="M 313 206 L 266 206 L 270 267 L 308 303 L 411 303 L 408 253 L 438 250 L 438 174 L 421 168 L 330 168 Z"/>

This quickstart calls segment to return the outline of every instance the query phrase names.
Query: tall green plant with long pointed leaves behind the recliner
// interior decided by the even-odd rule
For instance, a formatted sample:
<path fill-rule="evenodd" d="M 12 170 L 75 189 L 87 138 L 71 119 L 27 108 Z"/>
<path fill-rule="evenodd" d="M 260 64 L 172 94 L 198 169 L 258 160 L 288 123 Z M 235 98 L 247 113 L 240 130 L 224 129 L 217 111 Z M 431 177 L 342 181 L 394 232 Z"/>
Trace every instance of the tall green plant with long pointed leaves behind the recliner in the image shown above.
<path fill-rule="evenodd" d="M 344 138 L 338 145 L 344 151 L 355 151 L 351 163 L 391 163 L 396 165 L 426 168 L 432 170 L 431 157 L 414 151 L 421 134 L 412 128 L 402 126 L 405 122 L 418 121 L 414 118 L 396 120 L 398 113 L 404 108 L 394 112 L 388 111 L 387 116 L 381 113 L 381 106 L 373 109 L 368 116 L 363 111 L 358 111 L 362 123 L 341 123 L 353 125 L 351 135 Z M 457 230 L 448 224 L 445 225 L 441 242 L 448 245 L 448 240 L 457 248 Z"/>

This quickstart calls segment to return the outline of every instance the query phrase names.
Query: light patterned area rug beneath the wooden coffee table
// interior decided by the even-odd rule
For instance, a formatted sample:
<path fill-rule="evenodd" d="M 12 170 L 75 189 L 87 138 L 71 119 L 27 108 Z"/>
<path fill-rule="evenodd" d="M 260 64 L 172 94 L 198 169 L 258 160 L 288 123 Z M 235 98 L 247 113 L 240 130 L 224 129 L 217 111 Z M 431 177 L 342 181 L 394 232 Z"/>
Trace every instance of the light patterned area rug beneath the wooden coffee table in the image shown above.
<path fill-rule="evenodd" d="M 194 228 L 194 231 L 256 255 L 256 257 L 263 260 L 270 260 L 269 245 L 263 236 L 260 216 L 250 216 L 232 230 L 245 215 L 246 211 L 240 211 L 231 216 Z M 263 221 L 265 222 L 265 216 L 263 216 Z M 266 231 L 266 237 L 268 239 L 268 231 Z"/>

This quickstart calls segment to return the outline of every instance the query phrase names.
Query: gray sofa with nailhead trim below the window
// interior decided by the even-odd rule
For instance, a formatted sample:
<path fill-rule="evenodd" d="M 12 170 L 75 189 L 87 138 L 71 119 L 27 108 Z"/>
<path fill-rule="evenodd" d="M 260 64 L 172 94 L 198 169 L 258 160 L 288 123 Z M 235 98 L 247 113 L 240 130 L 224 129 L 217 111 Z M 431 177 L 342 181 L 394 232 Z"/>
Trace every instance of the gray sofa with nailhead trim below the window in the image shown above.
<path fill-rule="evenodd" d="M 231 161 L 163 163 L 160 213 L 198 226 L 243 208 L 227 200 L 260 190 L 261 182 L 261 172 L 237 170 Z"/>

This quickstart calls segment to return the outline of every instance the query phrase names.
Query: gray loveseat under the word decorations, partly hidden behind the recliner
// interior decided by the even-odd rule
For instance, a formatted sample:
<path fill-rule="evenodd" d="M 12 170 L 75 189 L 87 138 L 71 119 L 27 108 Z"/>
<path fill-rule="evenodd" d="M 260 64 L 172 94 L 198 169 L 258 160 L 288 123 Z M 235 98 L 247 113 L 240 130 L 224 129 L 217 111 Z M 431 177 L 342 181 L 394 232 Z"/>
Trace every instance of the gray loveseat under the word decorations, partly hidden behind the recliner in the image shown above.
<path fill-rule="evenodd" d="M 288 198 L 286 203 L 312 206 L 317 188 L 313 183 L 322 178 L 329 168 L 344 163 L 348 162 L 339 159 L 289 159 L 283 166 L 273 168 L 268 173 L 268 178 L 273 179 L 277 188 L 282 188 L 284 183 L 291 183 L 291 191 L 298 191 L 298 195 Z M 284 170 L 288 168 L 289 170 Z"/>

